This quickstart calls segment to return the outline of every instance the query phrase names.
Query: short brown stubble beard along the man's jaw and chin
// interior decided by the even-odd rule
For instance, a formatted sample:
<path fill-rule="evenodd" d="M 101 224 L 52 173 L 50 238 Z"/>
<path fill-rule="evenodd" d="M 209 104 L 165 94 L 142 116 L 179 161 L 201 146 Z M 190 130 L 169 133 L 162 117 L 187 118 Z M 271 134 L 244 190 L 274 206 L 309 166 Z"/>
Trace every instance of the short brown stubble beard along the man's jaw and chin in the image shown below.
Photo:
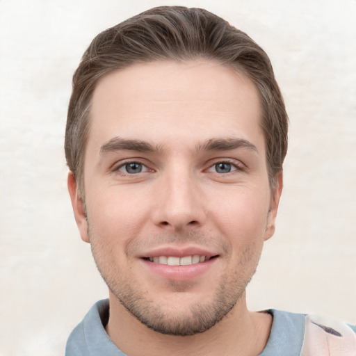
<path fill-rule="evenodd" d="M 89 235 L 90 229 L 88 229 Z M 176 305 L 152 300 L 147 291 L 140 289 L 130 276 L 122 277 L 118 266 L 108 266 L 106 253 L 102 245 L 97 244 L 96 238 L 90 238 L 95 264 L 106 285 L 127 311 L 140 323 L 161 334 L 188 336 L 209 330 L 221 321 L 243 295 L 257 267 L 259 256 L 256 258 L 248 249 L 236 262 L 234 273 L 224 273 L 220 276 L 218 286 L 210 300 L 200 300 L 188 307 L 179 308 Z M 247 262 L 257 260 L 253 268 L 241 274 Z M 246 272 L 246 271 L 244 271 Z M 170 281 L 172 291 L 182 293 L 189 290 L 190 282 Z M 154 286 L 152 286 L 154 288 Z"/>

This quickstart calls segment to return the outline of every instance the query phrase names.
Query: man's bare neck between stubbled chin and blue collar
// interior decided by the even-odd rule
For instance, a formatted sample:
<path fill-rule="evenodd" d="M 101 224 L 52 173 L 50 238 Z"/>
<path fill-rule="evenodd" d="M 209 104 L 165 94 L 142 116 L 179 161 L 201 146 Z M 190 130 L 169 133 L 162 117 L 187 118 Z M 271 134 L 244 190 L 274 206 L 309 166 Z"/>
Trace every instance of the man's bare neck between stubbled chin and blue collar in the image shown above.
<path fill-rule="evenodd" d="M 186 337 L 165 335 L 140 323 L 111 294 L 106 332 L 130 356 L 255 356 L 266 346 L 271 325 L 269 314 L 248 311 L 243 293 L 229 314 L 206 332 Z"/>

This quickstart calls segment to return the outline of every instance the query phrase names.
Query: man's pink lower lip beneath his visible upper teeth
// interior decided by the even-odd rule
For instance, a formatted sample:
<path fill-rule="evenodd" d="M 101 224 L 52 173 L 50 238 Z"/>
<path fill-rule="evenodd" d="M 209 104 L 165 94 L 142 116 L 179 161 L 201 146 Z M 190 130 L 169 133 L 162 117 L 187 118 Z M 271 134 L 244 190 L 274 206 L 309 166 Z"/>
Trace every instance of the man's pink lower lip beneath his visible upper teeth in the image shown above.
<path fill-rule="evenodd" d="M 217 258 L 209 259 L 208 261 L 200 262 L 199 264 L 190 264 L 187 266 L 168 266 L 168 264 L 159 264 L 157 262 L 147 261 L 141 259 L 145 268 L 151 272 L 160 275 L 167 280 L 185 281 L 193 280 L 195 277 L 199 277 L 211 268 L 216 262 Z"/>

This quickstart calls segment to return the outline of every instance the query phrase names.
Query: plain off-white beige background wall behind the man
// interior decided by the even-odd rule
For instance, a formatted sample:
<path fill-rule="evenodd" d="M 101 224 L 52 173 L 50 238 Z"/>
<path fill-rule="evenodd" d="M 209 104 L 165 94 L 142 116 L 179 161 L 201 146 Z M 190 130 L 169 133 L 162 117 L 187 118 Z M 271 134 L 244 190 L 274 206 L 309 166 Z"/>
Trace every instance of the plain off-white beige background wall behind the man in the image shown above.
<path fill-rule="evenodd" d="M 106 297 L 66 191 L 71 76 L 99 31 L 178 1 L 0 0 L 0 356 L 63 355 Z M 356 323 L 356 1 L 179 1 L 216 12 L 270 55 L 291 119 L 277 232 L 252 309 Z"/>

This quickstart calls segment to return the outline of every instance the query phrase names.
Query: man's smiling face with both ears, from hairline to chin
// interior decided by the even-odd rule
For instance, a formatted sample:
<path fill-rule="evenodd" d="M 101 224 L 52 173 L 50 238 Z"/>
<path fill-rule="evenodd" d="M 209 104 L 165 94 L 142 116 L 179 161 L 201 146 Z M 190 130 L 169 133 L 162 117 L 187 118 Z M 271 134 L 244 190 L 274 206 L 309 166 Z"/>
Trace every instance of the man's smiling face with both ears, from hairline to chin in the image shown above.
<path fill-rule="evenodd" d="M 133 65 L 99 81 L 91 118 L 85 209 L 68 182 L 111 296 L 158 332 L 208 330 L 274 232 L 256 88 L 214 62 Z"/>

